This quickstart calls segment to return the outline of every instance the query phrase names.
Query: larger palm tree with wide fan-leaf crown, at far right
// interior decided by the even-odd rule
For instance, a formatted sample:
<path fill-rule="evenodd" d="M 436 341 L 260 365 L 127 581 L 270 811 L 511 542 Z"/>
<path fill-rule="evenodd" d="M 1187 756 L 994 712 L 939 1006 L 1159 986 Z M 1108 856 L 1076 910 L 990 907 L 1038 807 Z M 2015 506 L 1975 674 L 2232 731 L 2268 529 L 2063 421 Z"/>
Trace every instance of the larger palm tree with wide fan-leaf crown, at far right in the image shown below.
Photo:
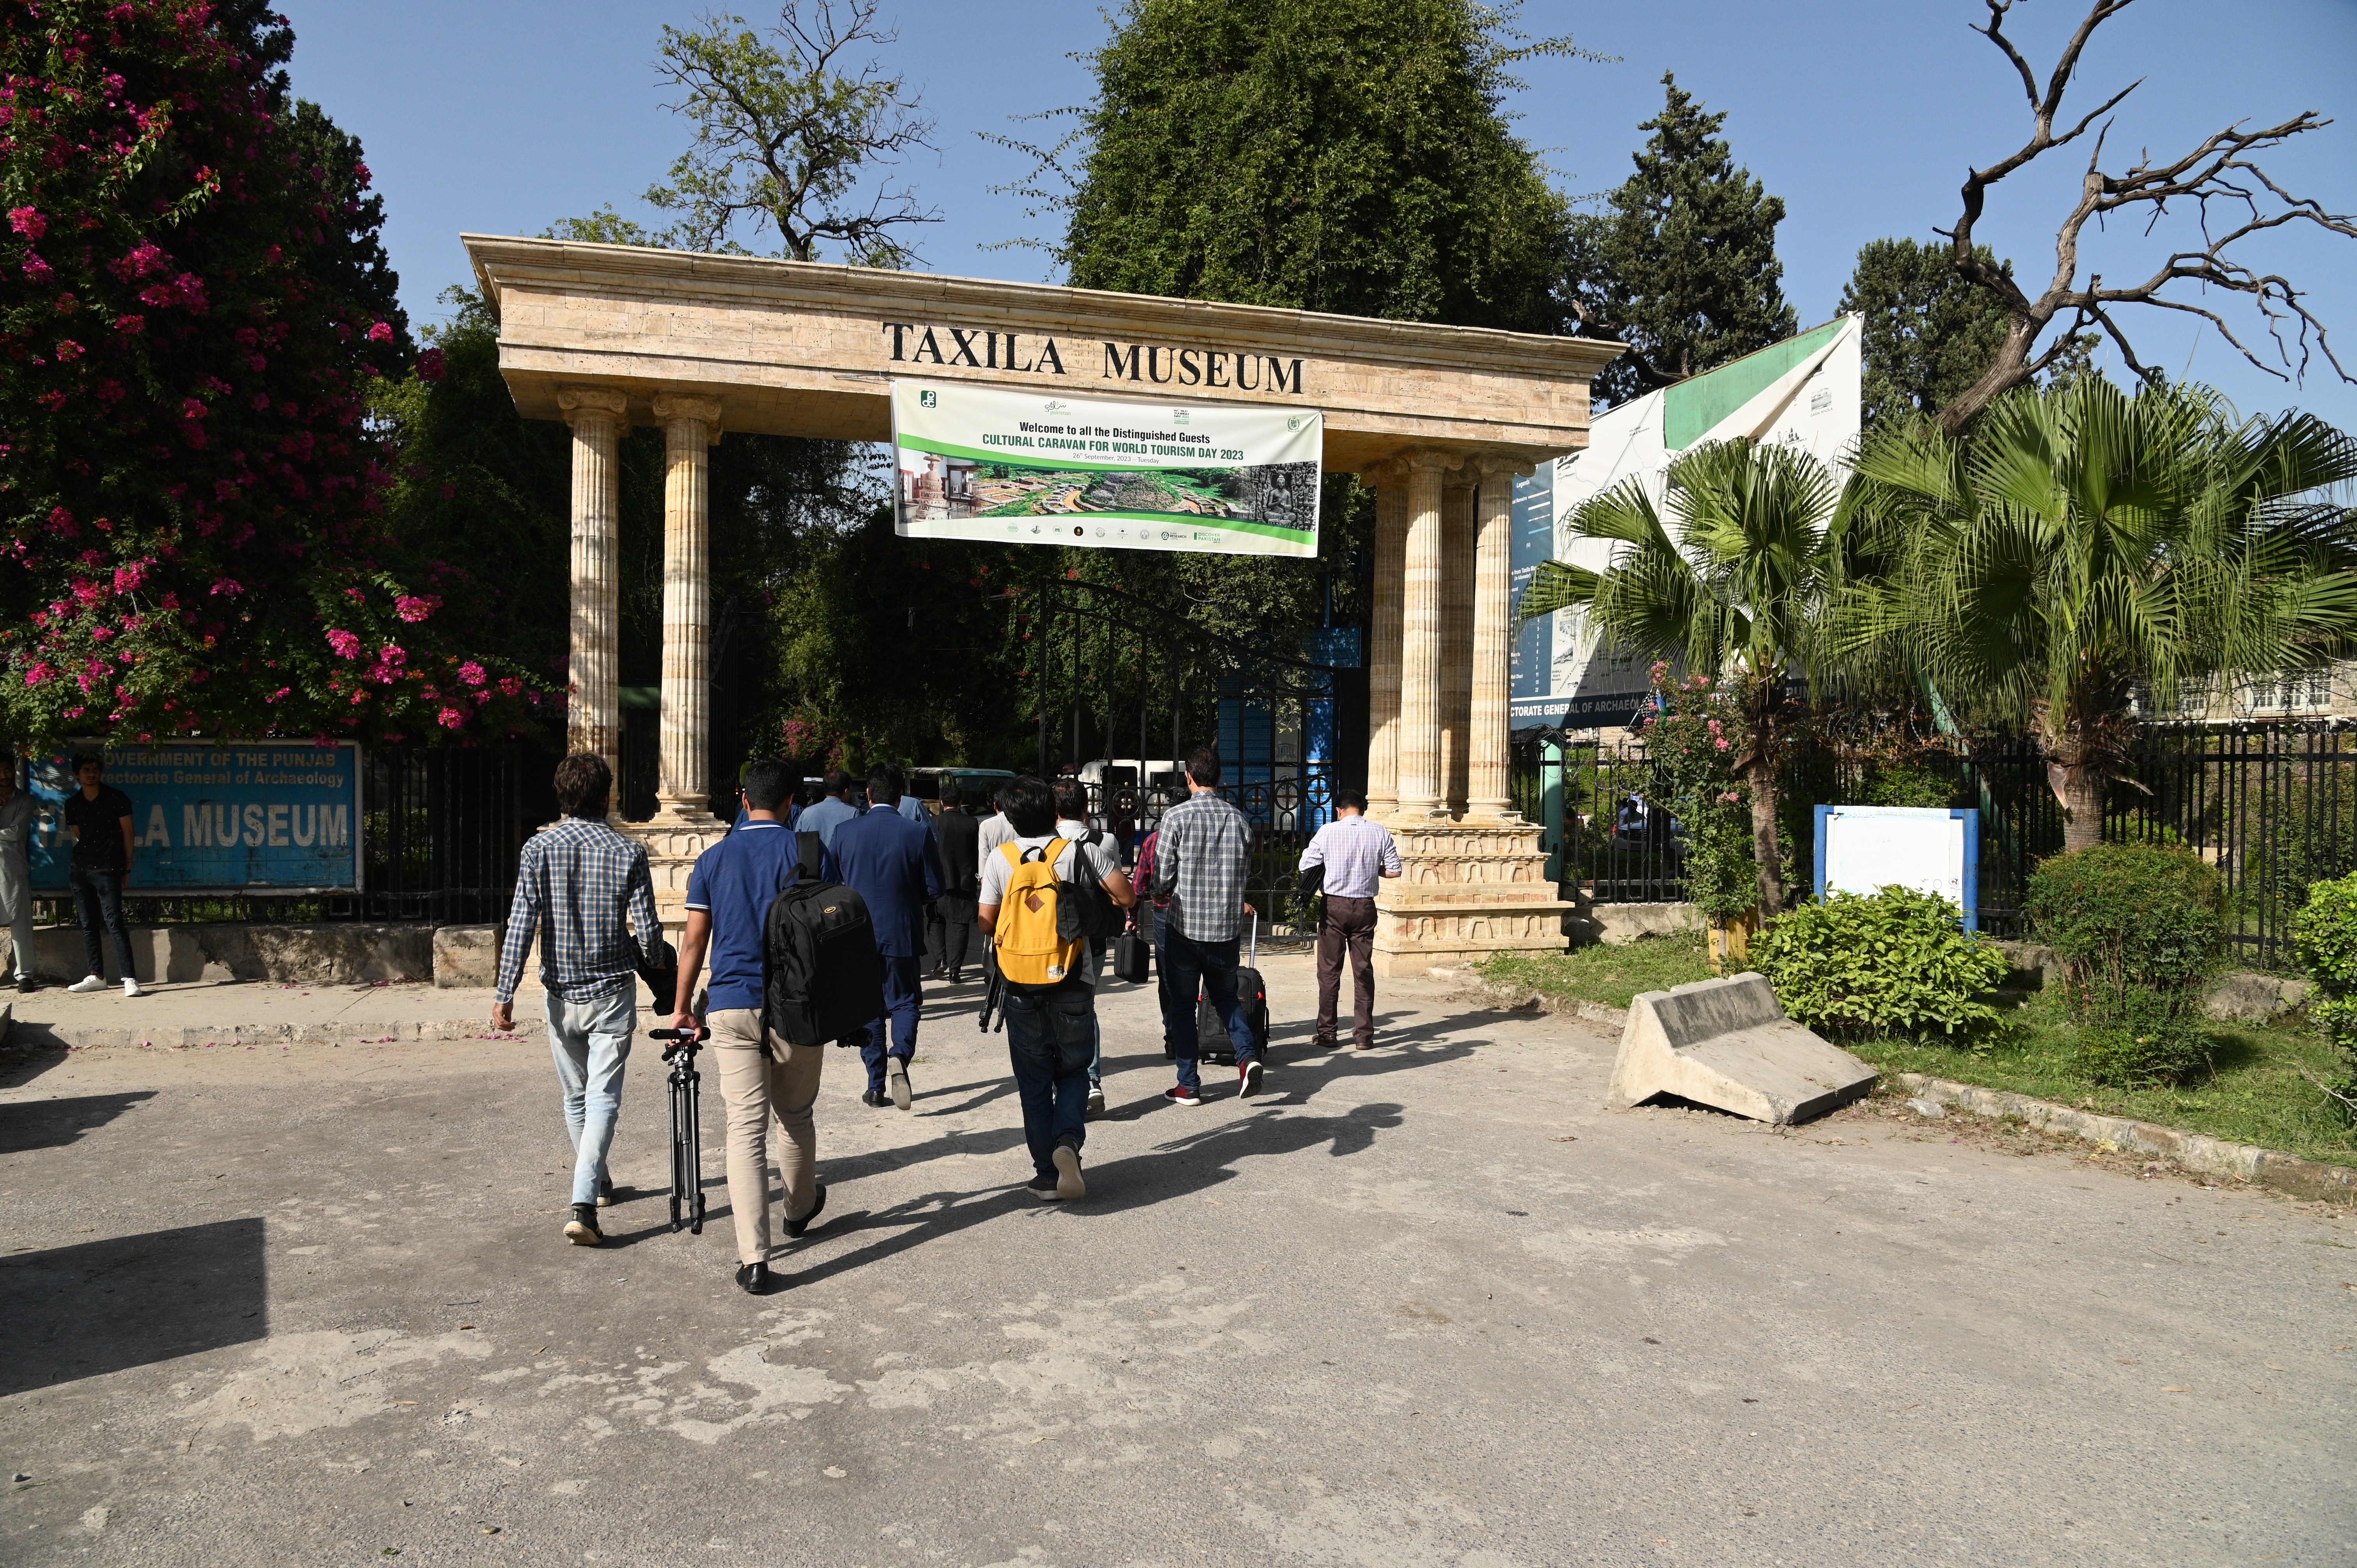
<path fill-rule="evenodd" d="M 2352 476 L 2357 441 L 2312 415 L 2237 424 L 2216 391 L 2100 377 L 2008 394 L 1961 439 L 1886 427 L 1846 512 L 1888 575 L 1838 597 L 1829 639 L 2027 726 L 2065 849 L 2100 844 L 2138 691 L 2166 712 L 2185 681 L 2357 646 L 2357 531 L 2317 495 Z"/>

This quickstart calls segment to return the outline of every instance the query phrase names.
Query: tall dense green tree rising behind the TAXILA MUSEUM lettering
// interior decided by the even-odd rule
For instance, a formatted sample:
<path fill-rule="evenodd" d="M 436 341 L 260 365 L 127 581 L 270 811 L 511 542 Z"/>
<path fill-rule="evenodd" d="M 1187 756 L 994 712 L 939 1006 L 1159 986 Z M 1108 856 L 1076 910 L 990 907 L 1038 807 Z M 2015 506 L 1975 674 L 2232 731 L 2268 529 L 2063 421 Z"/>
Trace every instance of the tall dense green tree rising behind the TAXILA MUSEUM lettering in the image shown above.
<path fill-rule="evenodd" d="M 1471 0 L 1131 0 L 1058 259 L 1080 288 L 1553 330 L 1567 210 L 1511 68 L 1574 54 Z"/>

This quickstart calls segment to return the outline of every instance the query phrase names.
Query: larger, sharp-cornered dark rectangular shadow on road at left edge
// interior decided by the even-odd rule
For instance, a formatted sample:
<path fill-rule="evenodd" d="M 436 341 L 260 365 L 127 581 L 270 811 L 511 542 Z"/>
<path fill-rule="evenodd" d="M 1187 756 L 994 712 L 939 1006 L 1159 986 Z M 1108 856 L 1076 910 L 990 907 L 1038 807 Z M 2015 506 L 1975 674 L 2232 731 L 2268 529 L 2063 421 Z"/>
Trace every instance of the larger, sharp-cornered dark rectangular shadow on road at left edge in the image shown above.
<path fill-rule="evenodd" d="M 0 1259 L 0 1396 L 269 1335 L 262 1219 Z"/>

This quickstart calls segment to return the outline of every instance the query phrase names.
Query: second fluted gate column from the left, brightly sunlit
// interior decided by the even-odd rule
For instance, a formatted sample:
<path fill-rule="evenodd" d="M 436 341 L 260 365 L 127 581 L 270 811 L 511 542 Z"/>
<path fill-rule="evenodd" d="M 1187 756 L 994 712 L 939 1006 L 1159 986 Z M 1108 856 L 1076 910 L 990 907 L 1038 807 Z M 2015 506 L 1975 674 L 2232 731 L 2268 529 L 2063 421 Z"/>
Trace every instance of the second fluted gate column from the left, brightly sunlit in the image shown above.
<path fill-rule="evenodd" d="M 662 424 L 662 773 L 658 823 L 712 821 L 712 512 L 707 450 L 719 398 L 660 394 Z"/>

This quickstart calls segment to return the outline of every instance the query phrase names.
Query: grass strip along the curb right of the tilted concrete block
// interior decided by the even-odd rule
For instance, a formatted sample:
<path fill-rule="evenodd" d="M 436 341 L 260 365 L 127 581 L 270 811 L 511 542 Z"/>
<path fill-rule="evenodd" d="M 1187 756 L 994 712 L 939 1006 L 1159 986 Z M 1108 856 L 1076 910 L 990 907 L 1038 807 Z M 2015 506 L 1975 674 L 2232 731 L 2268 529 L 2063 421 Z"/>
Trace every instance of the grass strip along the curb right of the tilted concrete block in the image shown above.
<path fill-rule="evenodd" d="M 2011 1089 L 2102 1115 L 2133 1115 L 2183 1132 L 2279 1148 L 2303 1160 L 2357 1165 L 2357 1132 L 2300 1075 L 2336 1080 L 2336 1052 L 2305 1023 L 2213 1023 L 2211 1068 L 2173 1089 L 2105 1089 L 2079 1068 L 2079 1030 L 2060 997 L 2034 995 L 1978 1049 L 1914 1040 L 1843 1040 L 1886 1073 L 1933 1073 Z"/>

